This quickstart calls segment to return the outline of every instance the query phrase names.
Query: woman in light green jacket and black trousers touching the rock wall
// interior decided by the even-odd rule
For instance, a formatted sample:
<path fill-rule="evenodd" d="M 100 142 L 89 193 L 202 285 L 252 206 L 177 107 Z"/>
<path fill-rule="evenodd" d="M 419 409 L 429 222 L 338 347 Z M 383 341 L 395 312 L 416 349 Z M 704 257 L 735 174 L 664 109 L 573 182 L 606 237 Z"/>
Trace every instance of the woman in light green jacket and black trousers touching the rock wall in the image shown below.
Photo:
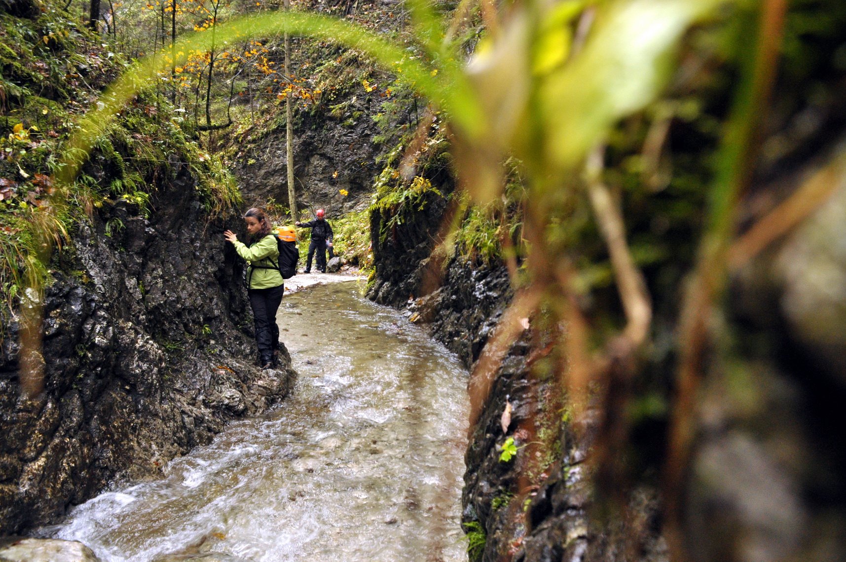
<path fill-rule="evenodd" d="M 271 369 L 276 366 L 279 355 L 276 311 L 285 292 L 282 274 L 277 267 L 279 250 L 276 237 L 270 234 L 270 223 L 264 211 L 251 208 L 244 214 L 244 222 L 252 240 L 249 246 L 239 242 L 231 230 L 224 232 L 223 237 L 232 242 L 238 255 L 250 263 L 247 267 L 247 294 L 253 309 L 259 364 L 262 369 Z"/>

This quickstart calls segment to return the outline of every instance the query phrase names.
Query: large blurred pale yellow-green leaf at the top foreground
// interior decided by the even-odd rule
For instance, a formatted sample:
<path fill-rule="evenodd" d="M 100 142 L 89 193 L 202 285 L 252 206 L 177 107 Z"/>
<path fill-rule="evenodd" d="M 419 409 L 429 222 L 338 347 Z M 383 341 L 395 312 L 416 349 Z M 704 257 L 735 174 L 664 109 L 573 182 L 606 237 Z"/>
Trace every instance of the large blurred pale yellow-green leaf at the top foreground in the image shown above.
<path fill-rule="evenodd" d="M 651 102 L 684 31 L 720 3 L 629 0 L 603 10 L 580 56 L 540 85 L 543 161 L 573 168 L 618 119 Z"/>

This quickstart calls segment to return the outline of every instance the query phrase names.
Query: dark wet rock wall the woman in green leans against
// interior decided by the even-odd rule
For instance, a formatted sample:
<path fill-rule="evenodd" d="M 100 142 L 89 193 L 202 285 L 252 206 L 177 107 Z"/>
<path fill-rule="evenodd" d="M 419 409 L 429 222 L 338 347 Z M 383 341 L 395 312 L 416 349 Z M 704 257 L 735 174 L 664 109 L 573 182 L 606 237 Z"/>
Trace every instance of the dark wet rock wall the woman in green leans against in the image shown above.
<path fill-rule="evenodd" d="M 156 473 L 223 424 L 266 410 L 294 372 L 254 360 L 242 264 L 179 174 L 150 218 L 123 201 L 74 234 L 47 289 L 44 391 L 0 355 L 0 532 L 55 521 L 110 482 Z M 106 225 L 121 229 L 106 235 Z"/>

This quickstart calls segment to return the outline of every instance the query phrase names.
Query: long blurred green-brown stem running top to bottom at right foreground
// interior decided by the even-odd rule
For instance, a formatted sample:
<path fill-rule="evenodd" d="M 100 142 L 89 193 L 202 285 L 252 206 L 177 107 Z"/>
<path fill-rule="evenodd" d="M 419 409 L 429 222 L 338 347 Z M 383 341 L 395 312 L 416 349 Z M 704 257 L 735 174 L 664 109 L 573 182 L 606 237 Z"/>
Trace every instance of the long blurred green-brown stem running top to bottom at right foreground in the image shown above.
<path fill-rule="evenodd" d="M 672 559 L 689 559 L 680 529 L 684 474 L 689 466 L 695 435 L 696 397 L 702 380 L 706 348 L 711 342 L 711 321 L 722 300 L 728 273 L 728 248 L 735 234 L 738 202 L 755 172 L 761 118 L 766 112 L 775 80 L 781 46 L 786 0 L 761 3 L 755 49 L 748 52 L 711 187 L 706 231 L 699 258 L 682 306 L 676 397 L 670 426 L 664 475 L 667 540 Z"/>

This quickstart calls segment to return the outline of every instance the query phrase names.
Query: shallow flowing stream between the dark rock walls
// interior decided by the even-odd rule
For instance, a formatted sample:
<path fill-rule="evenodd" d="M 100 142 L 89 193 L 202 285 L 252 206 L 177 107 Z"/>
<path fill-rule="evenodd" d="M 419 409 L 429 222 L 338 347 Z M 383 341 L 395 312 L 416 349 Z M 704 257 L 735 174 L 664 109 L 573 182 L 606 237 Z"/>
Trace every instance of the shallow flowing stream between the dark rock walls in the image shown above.
<path fill-rule="evenodd" d="M 286 295 L 278 322 L 299 372 L 281 405 L 42 534 L 104 562 L 465 560 L 459 361 L 354 283 Z"/>

